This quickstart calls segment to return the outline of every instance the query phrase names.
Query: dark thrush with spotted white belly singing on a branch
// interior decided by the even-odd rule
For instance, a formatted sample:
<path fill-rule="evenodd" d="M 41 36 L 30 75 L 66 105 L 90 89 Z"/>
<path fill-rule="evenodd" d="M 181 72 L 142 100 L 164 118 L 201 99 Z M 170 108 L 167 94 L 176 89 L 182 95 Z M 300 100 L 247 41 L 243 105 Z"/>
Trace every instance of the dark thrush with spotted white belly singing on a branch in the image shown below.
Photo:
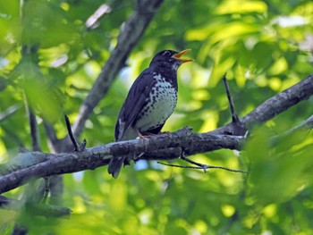
<path fill-rule="evenodd" d="M 182 63 L 193 61 L 182 58 L 189 51 L 163 50 L 153 57 L 131 85 L 115 124 L 115 141 L 160 133 L 177 104 L 177 70 Z M 108 173 L 116 179 L 123 164 L 129 164 L 128 157 L 113 156 Z"/>

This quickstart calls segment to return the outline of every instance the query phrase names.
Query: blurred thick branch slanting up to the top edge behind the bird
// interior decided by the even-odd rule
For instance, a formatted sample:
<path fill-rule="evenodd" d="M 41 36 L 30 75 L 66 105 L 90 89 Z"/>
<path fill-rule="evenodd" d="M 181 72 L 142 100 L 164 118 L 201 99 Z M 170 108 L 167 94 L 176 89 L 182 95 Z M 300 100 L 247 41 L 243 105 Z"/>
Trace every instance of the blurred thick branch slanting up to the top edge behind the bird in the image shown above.
<path fill-rule="evenodd" d="M 140 41 L 143 32 L 148 27 L 148 23 L 154 14 L 157 13 L 157 9 L 162 2 L 163 0 L 140 1 L 131 18 L 121 27 L 116 47 L 91 88 L 88 97 L 86 97 L 85 102 L 80 107 L 80 113 L 72 128 L 75 137 L 80 137 L 89 115 L 98 102 L 106 96 L 108 88 L 110 88 L 118 71 L 123 68 L 128 55 L 131 53 L 131 49 Z"/>

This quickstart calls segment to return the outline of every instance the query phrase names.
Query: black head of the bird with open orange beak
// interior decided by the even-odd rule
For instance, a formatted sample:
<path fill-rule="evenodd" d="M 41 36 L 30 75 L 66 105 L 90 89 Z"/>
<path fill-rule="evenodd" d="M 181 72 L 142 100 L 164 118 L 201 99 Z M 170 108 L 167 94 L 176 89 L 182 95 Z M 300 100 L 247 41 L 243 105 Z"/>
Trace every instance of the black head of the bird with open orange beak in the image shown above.
<path fill-rule="evenodd" d="M 164 67 L 164 68 L 171 68 L 174 71 L 177 71 L 179 66 L 182 65 L 182 63 L 191 62 L 193 60 L 191 59 L 183 59 L 182 55 L 185 55 L 188 53 L 190 49 L 183 50 L 181 52 L 176 52 L 173 50 L 164 50 L 155 57 L 153 57 L 150 66 L 158 66 L 158 67 Z"/>

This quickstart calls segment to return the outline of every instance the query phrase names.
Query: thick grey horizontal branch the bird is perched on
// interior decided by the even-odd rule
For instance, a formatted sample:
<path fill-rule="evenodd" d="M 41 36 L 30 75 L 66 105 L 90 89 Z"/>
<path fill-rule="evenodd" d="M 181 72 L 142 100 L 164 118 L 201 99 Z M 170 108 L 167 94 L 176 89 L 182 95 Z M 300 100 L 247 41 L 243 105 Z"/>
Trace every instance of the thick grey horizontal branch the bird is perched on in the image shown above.
<path fill-rule="evenodd" d="M 32 178 L 93 170 L 108 164 L 112 155 L 148 153 L 142 156 L 142 159 L 150 159 L 149 153 L 159 149 L 165 151 L 165 149 L 173 147 L 180 147 L 181 152 L 183 151 L 185 155 L 192 155 L 220 148 L 240 149 L 242 139 L 241 137 L 209 135 L 207 133 L 193 134 L 185 128 L 172 134 L 157 135 L 148 139 L 134 139 L 91 147 L 83 152 L 56 155 L 33 152 L 33 158 L 40 163 L 23 166 L 20 167 L 20 170 L 4 174 L 0 178 L 0 193 L 15 189 Z M 165 155 L 161 159 L 165 159 Z"/>

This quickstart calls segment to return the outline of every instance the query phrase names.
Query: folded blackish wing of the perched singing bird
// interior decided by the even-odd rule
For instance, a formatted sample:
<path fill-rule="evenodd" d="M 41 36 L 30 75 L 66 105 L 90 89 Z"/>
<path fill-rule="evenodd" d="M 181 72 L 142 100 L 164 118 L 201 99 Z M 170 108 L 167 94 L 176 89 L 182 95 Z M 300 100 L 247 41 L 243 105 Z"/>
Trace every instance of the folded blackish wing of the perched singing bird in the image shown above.
<path fill-rule="evenodd" d="M 125 132 L 140 114 L 151 88 L 155 86 L 156 80 L 153 76 L 153 71 L 148 68 L 132 84 L 115 125 L 115 140 L 123 139 Z"/>

